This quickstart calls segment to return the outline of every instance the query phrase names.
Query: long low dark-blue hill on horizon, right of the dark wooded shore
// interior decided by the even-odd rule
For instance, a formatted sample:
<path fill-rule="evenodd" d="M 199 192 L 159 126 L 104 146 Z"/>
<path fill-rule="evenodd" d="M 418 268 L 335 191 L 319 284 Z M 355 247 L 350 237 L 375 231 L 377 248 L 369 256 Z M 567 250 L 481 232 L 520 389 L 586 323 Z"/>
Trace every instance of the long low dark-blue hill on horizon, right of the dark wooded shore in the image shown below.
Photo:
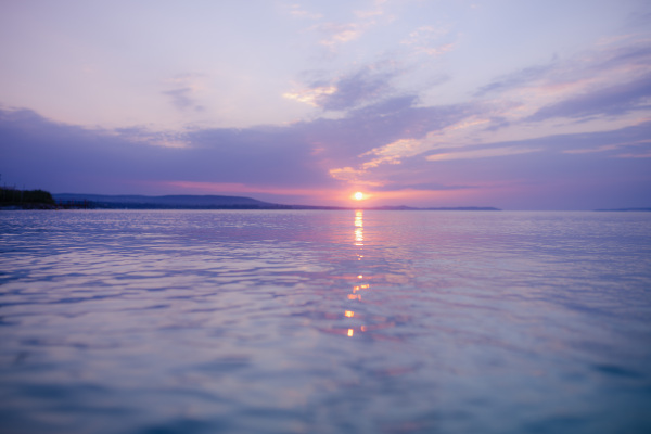
<path fill-rule="evenodd" d="M 288 205 L 257 201 L 242 196 L 218 195 L 104 195 L 104 194 L 53 194 L 63 206 L 128 209 L 282 209 Z"/>

